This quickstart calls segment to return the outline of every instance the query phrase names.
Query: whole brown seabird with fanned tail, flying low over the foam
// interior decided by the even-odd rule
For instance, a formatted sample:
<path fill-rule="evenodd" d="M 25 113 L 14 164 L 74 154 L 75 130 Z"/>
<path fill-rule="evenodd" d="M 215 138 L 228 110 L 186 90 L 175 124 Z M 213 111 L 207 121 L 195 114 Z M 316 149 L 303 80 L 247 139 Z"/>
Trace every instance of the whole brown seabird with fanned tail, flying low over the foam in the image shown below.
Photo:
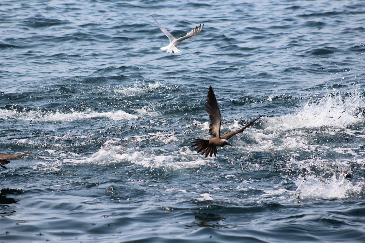
<path fill-rule="evenodd" d="M 216 147 L 223 147 L 224 145 L 231 145 L 227 141 L 230 137 L 236 135 L 237 133 L 243 132 L 246 128 L 251 126 L 255 121 L 257 121 L 260 117 L 262 117 L 262 115 L 261 115 L 260 117 L 254 119 L 253 121 L 251 121 L 249 124 L 247 124 L 246 126 L 244 126 L 241 129 L 238 129 L 236 131 L 229 132 L 227 134 L 224 134 L 223 136 L 220 136 L 220 123 L 222 122 L 222 119 L 220 118 L 220 111 L 219 111 L 218 103 L 215 98 L 212 86 L 209 87 L 207 105 L 205 105 L 205 110 L 209 114 L 209 118 L 210 118 L 209 133 L 213 136 L 213 138 L 208 139 L 208 140 L 194 138 L 195 141 L 193 141 L 193 143 L 195 143 L 195 144 L 192 145 L 192 147 L 196 146 L 195 150 L 197 150 L 198 153 L 203 151 L 203 152 L 201 152 L 201 154 L 205 153 L 205 157 L 207 157 L 208 154 L 210 155 L 210 157 L 212 157 L 212 154 L 214 154 L 214 156 L 215 156 L 215 154 L 218 153 Z"/>

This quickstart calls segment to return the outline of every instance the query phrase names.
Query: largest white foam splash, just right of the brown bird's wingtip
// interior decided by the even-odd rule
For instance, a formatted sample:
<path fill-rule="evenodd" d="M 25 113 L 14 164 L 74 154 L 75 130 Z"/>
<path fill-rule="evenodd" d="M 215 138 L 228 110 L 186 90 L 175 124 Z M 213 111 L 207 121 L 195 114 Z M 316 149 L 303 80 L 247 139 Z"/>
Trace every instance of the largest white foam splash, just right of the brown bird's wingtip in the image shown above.
<path fill-rule="evenodd" d="M 365 99 L 356 92 L 345 98 L 336 93 L 318 101 L 310 100 L 298 109 L 296 114 L 261 118 L 264 129 L 250 133 L 250 139 L 257 141 L 257 144 L 242 146 L 242 149 L 249 151 L 331 149 L 343 153 L 326 145 L 313 146 L 311 141 L 321 134 L 336 136 L 342 133 L 353 137 L 364 136 L 362 131 L 349 128 L 351 124 L 364 122 L 364 116 L 361 114 L 362 107 L 365 107 Z M 236 126 L 236 123 L 233 126 Z M 351 148 L 347 149 L 348 153 L 353 152 Z M 353 153 L 353 155 L 356 154 Z"/>

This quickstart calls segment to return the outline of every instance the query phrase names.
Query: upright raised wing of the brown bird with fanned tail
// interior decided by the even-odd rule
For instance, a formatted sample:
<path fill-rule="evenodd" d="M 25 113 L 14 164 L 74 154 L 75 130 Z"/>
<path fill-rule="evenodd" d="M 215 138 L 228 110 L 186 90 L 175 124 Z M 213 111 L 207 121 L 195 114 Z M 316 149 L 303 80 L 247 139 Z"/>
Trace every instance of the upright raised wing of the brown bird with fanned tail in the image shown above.
<path fill-rule="evenodd" d="M 207 105 L 205 105 L 205 110 L 208 112 L 210 118 L 209 133 L 213 137 L 219 137 L 220 122 L 222 122 L 222 119 L 220 118 L 220 111 L 212 86 L 209 86 Z"/>

